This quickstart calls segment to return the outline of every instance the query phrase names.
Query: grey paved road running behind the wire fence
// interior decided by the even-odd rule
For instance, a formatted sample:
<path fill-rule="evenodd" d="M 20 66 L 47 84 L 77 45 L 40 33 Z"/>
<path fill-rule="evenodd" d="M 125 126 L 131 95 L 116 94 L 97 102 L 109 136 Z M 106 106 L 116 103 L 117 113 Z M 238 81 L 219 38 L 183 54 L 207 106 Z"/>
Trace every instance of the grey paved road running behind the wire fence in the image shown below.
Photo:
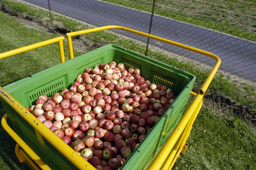
<path fill-rule="evenodd" d="M 48 8 L 47 1 L 26 1 L 43 8 Z M 54 12 L 82 20 L 94 26 L 119 25 L 146 33 L 148 32 L 150 13 L 96 0 L 51 0 L 50 2 L 51 10 Z M 124 31 L 116 32 L 143 42 L 147 41 L 146 38 L 138 35 L 132 35 Z M 220 56 L 222 60 L 221 70 L 256 82 L 256 43 L 158 15 L 154 15 L 151 33 L 152 35 L 161 36 L 175 42 L 212 52 Z M 212 59 L 196 54 L 195 52 L 159 43 L 154 40 L 150 40 L 150 43 L 182 56 L 207 63 L 208 65 L 214 63 Z"/>

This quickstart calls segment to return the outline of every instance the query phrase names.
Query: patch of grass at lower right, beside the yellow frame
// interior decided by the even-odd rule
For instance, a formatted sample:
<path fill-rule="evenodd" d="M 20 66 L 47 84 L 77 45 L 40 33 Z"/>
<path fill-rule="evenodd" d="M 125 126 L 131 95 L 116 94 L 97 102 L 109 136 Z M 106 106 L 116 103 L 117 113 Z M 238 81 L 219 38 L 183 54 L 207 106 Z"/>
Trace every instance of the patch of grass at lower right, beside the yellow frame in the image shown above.
<path fill-rule="evenodd" d="M 191 130 L 177 169 L 255 169 L 255 134 L 238 118 L 221 118 L 204 107 Z"/>

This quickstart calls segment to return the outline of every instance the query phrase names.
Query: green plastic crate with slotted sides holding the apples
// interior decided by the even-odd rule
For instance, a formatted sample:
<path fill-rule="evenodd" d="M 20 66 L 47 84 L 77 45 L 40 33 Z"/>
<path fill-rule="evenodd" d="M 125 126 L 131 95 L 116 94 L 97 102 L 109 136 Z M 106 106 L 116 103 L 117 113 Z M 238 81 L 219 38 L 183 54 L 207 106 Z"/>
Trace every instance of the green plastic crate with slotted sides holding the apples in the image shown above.
<path fill-rule="evenodd" d="M 85 68 L 101 63 L 124 63 L 127 68 L 140 68 L 145 79 L 156 84 L 163 84 L 172 88 L 177 98 L 163 114 L 161 119 L 150 130 L 143 142 L 132 153 L 122 166 L 122 169 L 145 169 L 157 155 L 167 137 L 179 122 L 186 106 L 191 89 L 195 82 L 195 75 L 183 72 L 173 66 L 166 65 L 155 59 L 148 58 L 137 52 L 127 50 L 118 45 L 109 44 L 93 50 L 65 63 L 38 72 L 13 82 L 4 89 L 10 93 L 24 107 L 29 107 L 41 94 L 52 96 L 63 88 L 70 86 L 78 74 Z M 3 103 L 8 114 L 8 121 L 13 130 L 35 151 L 36 154 L 52 169 L 76 169 L 61 153 L 44 139 L 42 145 L 36 138 L 32 128 L 10 105 Z"/>

